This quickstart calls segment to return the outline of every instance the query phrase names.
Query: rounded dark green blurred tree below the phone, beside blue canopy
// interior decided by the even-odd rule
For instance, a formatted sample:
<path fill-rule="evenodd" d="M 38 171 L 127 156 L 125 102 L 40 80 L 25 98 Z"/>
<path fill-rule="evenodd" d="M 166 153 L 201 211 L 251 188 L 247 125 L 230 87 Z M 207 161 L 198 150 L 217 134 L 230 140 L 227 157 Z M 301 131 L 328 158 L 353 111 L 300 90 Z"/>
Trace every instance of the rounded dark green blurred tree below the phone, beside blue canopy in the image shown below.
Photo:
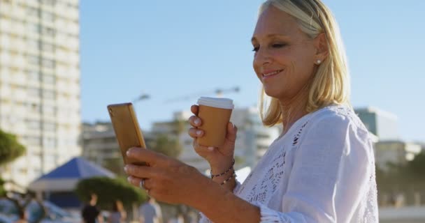
<path fill-rule="evenodd" d="M 101 209 L 110 209 L 111 203 L 120 200 L 126 206 L 140 204 L 147 200 L 144 190 L 134 187 L 124 178 L 94 177 L 80 180 L 75 187 L 75 194 L 81 201 L 88 202 L 91 194 L 98 197 L 98 205 Z"/>

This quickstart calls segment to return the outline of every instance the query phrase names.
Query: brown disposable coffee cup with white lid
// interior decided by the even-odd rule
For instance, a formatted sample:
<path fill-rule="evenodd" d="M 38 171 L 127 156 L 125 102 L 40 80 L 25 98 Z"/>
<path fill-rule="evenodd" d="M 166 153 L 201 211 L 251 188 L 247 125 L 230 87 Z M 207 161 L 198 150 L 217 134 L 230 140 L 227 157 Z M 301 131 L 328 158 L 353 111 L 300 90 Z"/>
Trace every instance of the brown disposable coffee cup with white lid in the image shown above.
<path fill-rule="evenodd" d="M 202 122 L 199 128 L 204 132 L 203 136 L 197 139 L 198 144 L 201 146 L 222 146 L 227 133 L 227 124 L 234 107 L 233 100 L 201 97 L 198 100 L 198 105 L 198 116 Z"/>

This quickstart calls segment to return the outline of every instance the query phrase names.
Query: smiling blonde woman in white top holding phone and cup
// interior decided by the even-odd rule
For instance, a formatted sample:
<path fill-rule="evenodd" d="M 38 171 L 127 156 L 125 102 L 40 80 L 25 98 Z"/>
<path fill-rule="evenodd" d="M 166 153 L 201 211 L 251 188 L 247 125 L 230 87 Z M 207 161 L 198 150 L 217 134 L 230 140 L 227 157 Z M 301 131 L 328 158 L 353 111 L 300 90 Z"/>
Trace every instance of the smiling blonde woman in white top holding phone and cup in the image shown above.
<path fill-rule="evenodd" d="M 127 166 L 129 181 L 158 200 L 201 210 L 201 222 L 378 222 L 373 148 L 350 107 L 345 52 L 329 9 L 319 0 L 266 1 L 252 45 L 261 118 L 283 131 L 245 182 L 234 178 L 231 123 L 222 148 L 194 140 L 212 179 L 132 148 L 128 155 L 150 167 Z M 198 107 L 192 112 L 189 134 L 196 139 L 202 121 Z"/>

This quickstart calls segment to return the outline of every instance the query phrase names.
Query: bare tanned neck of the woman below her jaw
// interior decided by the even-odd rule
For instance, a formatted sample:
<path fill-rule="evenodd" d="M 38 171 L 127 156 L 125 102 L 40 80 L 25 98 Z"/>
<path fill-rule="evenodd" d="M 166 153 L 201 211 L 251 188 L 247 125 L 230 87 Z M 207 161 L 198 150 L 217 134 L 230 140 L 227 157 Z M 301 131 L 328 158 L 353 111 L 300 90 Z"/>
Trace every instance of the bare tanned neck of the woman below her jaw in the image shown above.
<path fill-rule="evenodd" d="M 289 100 L 280 100 L 283 124 L 282 134 L 285 134 L 299 118 L 308 113 L 305 109 L 308 100 L 308 92 L 308 87 L 305 86 Z"/>

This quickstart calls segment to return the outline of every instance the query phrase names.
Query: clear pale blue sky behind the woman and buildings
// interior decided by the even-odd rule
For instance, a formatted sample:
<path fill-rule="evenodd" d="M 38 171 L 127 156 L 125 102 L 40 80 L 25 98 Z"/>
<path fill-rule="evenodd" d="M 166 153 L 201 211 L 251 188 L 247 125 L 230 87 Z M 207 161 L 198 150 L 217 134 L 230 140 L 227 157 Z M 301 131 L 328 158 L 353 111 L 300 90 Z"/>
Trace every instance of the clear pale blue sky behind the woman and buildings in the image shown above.
<path fill-rule="evenodd" d="M 133 100 L 149 129 L 197 96 L 239 86 L 257 105 L 250 38 L 259 0 L 80 1 L 82 120 L 108 121 L 106 105 Z M 354 107 L 398 116 L 402 139 L 425 141 L 425 8 L 422 0 L 324 1 L 347 48 Z M 166 102 L 180 96 L 187 100 Z"/>

